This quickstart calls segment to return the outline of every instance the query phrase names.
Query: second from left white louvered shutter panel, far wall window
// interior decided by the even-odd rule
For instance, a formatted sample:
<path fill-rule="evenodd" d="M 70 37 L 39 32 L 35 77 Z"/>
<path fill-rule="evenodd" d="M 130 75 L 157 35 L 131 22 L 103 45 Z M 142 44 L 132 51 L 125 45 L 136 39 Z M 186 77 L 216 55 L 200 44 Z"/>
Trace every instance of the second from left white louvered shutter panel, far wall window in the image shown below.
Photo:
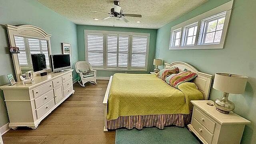
<path fill-rule="evenodd" d="M 107 66 L 117 66 L 117 35 L 107 35 Z"/>

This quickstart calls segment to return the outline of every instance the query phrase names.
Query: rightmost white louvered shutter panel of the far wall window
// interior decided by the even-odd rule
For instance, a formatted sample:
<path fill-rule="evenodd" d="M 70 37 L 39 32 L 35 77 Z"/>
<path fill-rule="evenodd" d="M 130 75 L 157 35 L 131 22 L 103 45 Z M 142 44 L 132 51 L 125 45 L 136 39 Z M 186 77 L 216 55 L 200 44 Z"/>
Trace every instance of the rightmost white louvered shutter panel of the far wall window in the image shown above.
<path fill-rule="evenodd" d="M 132 61 L 131 67 L 146 67 L 147 36 L 132 36 Z"/>

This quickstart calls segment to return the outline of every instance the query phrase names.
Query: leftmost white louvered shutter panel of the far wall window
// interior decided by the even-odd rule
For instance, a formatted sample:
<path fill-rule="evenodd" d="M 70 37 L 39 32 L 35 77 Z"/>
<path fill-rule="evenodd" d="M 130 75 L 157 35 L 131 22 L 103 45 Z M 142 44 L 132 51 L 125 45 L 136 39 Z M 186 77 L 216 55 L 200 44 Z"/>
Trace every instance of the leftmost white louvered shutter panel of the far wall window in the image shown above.
<path fill-rule="evenodd" d="M 103 68 L 103 34 L 87 34 L 87 59 L 92 66 Z"/>

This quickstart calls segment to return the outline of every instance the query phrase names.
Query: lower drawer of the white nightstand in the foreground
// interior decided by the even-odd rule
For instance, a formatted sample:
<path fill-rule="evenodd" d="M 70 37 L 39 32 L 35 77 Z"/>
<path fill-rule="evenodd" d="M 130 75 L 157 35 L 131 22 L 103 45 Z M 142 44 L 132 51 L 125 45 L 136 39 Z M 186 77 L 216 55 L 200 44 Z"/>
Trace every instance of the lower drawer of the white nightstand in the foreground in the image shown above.
<path fill-rule="evenodd" d="M 208 130 L 206 130 L 206 128 L 204 126 L 202 126 L 202 124 L 200 124 L 200 122 L 198 122 L 195 118 L 192 120 L 191 122 L 192 126 L 196 129 L 196 131 L 202 136 L 204 137 L 204 139 L 209 142 L 210 144 L 212 143 L 212 138 L 213 135 L 208 132 Z"/>

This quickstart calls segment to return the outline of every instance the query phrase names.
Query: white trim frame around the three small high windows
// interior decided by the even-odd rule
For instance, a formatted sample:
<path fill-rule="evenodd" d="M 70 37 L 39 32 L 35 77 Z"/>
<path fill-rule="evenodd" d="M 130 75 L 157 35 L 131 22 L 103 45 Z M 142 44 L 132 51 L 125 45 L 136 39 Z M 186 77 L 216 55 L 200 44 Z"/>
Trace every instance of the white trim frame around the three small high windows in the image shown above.
<path fill-rule="evenodd" d="M 224 46 L 226 33 L 228 30 L 228 24 L 230 20 L 230 14 L 232 11 L 232 6 L 233 6 L 233 0 L 226 2 L 225 4 L 222 4 L 221 6 L 218 6 L 194 18 L 186 20 L 185 22 L 172 26 L 169 50 L 222 49 Z M 224 18 L 225 18 L 220 42 L 215 42 L 215 43 L 212 42 L 208 44 L 202 43 L 203 35 L 206 34 L 205 33 L 206 30 L 204 28 L 206 19 L 208 20 L 209 18 L 212 18 L 212 17 L 215 18 L 216 16 L 218 16 L 218 14 L 222 14 L 222 15 L 224 14 Z M 190 24 L 195 24 L 195 23 L 197 23 L 197 30 L 196 30 L 196 38 L 195 38 L 194 44 L 186 45 L 184 44 L 184 41 L 186 38 L 186 27 L 190 26 Z M 181 30 L 179 46 L 174 46 L 174 32 L 176 30 Z"/>

